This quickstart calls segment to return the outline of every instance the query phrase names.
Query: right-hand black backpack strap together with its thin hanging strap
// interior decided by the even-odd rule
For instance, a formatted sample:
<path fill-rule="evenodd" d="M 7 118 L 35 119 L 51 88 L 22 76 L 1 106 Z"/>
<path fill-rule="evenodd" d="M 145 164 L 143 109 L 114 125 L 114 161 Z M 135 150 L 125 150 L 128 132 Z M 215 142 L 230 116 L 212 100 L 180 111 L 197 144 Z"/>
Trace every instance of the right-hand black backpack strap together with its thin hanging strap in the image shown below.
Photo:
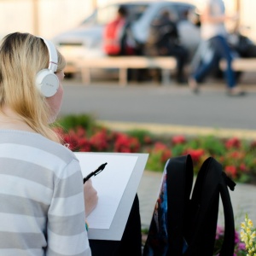
<path fill-rule="evenodd" d="M 212 256 L 218 223 L 219 194 L 223 200 L 225 220 L 225 242 L 223 253 L 219 255 L 233 256 L 235 224 L 227 185 L 232 187 L 218 161 L 212 157 L 205 160 L 196 178 L 191 199 L 190 225 L 186 236 L 189 249 L 186 256 Z"/>

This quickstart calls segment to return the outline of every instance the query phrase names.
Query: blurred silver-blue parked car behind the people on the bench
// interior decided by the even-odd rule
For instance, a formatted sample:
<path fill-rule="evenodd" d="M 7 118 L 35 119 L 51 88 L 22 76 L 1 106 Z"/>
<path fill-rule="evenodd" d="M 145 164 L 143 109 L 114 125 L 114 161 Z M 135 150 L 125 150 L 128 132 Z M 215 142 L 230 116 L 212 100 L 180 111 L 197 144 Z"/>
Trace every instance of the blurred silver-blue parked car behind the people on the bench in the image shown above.
<path fill-rule="evenodd" d="M 131 31 L 139 44 L 146 42 L 151 21 L 160 15 L 163 9 L 170 10 L 172 15 L 176 16 L 181 44 L 190 52 L 199 44 L 199 29 L 187 19 L 189 11 L 195 9 L 190 3 L 173 1 L 113 3 L 96 9 L 79 26 L 52 39 L 66 57 L 66 73 L 76 73 L 81 61 L 86 57 L 105 55 L 102 50 L 103 29 L 110 20 L 113 20 L 120 5 L 128 9 Z"/>

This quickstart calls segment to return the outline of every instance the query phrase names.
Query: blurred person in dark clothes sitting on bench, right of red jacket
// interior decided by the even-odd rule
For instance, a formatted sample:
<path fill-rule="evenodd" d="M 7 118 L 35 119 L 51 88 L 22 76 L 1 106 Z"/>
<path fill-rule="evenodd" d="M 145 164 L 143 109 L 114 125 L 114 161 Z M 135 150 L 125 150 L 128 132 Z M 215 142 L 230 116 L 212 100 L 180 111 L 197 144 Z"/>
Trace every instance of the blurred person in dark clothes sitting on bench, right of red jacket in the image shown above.
<path fill-rule="evenodd" d="M 144 46 L 144 54 L 174 56 L 177 59 L 177 83 L 183 84 L 187 81 L 184 75 L 184 66 L 189 53 L 179 42 L 177 24 L 172 20 L 169 10 L 163 10 L 160 17 L 151 23 L 148 41 Z"/>

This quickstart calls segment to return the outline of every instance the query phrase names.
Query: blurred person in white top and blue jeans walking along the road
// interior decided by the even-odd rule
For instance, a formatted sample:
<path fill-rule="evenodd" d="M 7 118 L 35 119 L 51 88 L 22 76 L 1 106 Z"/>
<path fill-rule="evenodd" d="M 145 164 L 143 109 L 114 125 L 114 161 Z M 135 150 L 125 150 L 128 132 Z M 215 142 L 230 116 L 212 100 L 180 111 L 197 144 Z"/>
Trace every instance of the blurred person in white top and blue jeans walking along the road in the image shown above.
<path fill-rule="evenodd" d="M 199 91 L 198 83 L 206 78 L 207 74 L 218 65 L 221 59 L 224 59 L 227 63 L 225 79 L 228 95 L 241 96 L 245 94 L 236 85 L 235 73 L 232 70 L 232 55 L 226 40 L 227 32 L 224 22 L 234 19 L 237 19 L 237 17 L 225 15 L 223 0 L 205 0 L 201 12 L 201 38 L 209 45 L 212 56 L 207 61 L 201 61 L 189 78 L 189 87 L 195 93 Z"/>

